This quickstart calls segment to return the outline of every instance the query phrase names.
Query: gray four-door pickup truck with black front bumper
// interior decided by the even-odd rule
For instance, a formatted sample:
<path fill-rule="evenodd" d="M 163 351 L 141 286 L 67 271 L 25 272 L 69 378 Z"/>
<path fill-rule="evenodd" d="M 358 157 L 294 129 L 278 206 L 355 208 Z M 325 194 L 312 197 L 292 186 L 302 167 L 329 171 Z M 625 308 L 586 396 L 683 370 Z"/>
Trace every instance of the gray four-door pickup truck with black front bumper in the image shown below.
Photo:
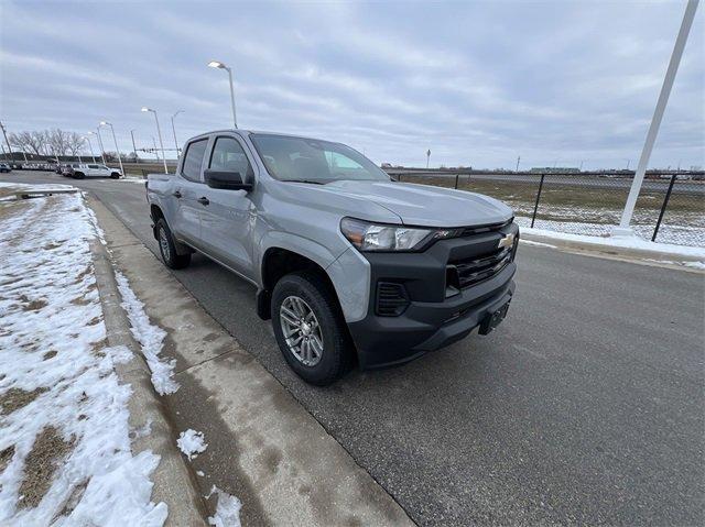
<path fill-rule="evenodd" d="M 306 382 L 401 364 L 507 315 L 519 228 L 502 202 L 394 182 L 329 141 L 223 130 L 183 152 L 147 182 L 164 263 L 197 251 L 252 283 Z"/>

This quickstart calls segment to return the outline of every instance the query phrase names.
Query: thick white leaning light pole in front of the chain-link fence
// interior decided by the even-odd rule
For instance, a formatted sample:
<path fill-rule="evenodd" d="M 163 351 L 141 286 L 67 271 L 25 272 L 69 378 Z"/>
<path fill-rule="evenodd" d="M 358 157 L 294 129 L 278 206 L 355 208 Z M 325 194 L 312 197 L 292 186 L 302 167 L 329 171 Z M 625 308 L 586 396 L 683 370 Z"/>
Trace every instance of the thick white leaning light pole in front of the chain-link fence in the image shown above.
<path fill-rule="evenodd" d="M 661 86 L 661 92 L 657 101 L 657 108 L 653 111 L 651 118 L 651 124 L 649 125 L 649 132 L 641 151 L 641 157 L 639 157 L 639 165 L 637 165 L 637 173 L 634 179 L 631 183 L 631 189 L 625 204 L 625 210 L 621 213 L 619 227 L 612 230 L 612 235 L 633 235 L 633 230 L 629 224 L 631 223 L 631 217 L 634 213 L 634 207 L 637 206 L 637 199 L 641 191 L 641 185 L 643 183 L 643 176 L 647 173 L 647 166 L 649 165 L 649 158 L 651 157 L 651 151 L 653 150 L 653 143 L 655 143 L 657 135 L 659 134 L 659 128 L 661 127 L 661 120 L 665 111 L 665 106 L 669 102 L 669 96 L 671 95 L 671 88 L 673 87 L 673 80 L 675 79 L 675 73 L 681 64 L 681 57 L 683 56 L 683 50 L 687 42 L 687 35 L 691 32 L 693 25 L 693 19 L 695 18 L 695 11 L 699 0 L 688 0 L 685 7 L 685 13 L 683 13 L 683 22 L 681 22 L 681 29 L 679 35 L 675 39 L 675 45 L 673 46 L 673 53 L 671 54 L 671 61 L 669 62 L 669 68 L 665 72 L 663 79 L 663 86 Z"/>

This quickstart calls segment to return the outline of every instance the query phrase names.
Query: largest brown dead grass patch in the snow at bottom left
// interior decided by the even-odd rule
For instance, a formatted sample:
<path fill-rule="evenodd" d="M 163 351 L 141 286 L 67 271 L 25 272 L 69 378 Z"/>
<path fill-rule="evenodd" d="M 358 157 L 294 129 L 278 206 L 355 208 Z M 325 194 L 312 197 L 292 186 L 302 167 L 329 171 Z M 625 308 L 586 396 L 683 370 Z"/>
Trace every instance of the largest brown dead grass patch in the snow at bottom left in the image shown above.
<path fill-rule="evenodd" d="M 20 508 L 36 507 L 52 486 L 58 461 L 73 448 L 54 427 L 45 427 L 34 440 L 24 462 L 24 479 L 20 485 Z"/>

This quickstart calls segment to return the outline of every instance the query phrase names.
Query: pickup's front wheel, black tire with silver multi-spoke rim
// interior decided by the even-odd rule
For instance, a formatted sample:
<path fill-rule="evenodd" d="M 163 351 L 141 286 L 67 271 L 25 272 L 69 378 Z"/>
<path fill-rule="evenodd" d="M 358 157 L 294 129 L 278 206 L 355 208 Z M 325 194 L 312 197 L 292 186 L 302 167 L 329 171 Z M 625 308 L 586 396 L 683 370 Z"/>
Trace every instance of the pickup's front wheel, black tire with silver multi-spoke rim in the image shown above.
<path fill-rule="evenodd" d="M 288 318 L 293 318 L 291 307 L 292 303 L 296 303 L 296 300 L 292 300 L 292 298 L 302 300 L 304 309 L 307 308 L 315 317 L 307 319 L 305 328 L 301 328 L 300 323 L 297 332 L 290 333 L 290 342 L 295 342 L 299 337 L 306 340 L 305 329 L 311 331 L 306 332 L 308 336 L 307 348 L 302 351 L 301 347 L 305 344 L 299 344 L 299 354 L 293 351 L 296 347 L 292 348 L 284 334 L 285 330 L 292 330 L 292 325 L 282 317 L 282 315 L 286 315 Z M 282 306 L 284 306 L 284 310 L 282 310 Z M 301 311 L 293 310 L 293 312 L 294 316 L 301 315 Z M 354 347 L 343 312 L 335 292 L 318 274 L 302 272 L 282 277 L 272 292 L 271 315 L 274 336 L 284 359 L 305 382 L 326 386 L 340 378 L 350 369 Z M 299 318 L 300 320 L 301 318 Z M 319 344 L 323 345 L 319 347 Z M 319 353 L 317 348 L 321 348 Z"/>

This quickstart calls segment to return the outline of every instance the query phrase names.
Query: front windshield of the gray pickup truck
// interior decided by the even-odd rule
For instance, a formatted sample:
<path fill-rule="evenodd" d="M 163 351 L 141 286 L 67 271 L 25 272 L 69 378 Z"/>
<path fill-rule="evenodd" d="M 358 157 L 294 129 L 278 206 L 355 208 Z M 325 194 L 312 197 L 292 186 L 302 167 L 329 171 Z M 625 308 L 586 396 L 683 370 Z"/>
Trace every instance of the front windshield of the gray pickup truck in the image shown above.
<path fill-rule="evenodd" d="M 319 184 L 341 179 L 390 180 L 375 163 L 340 143 L 264 133 L 250 138 L 267 172 L 280 180 Z"/>

